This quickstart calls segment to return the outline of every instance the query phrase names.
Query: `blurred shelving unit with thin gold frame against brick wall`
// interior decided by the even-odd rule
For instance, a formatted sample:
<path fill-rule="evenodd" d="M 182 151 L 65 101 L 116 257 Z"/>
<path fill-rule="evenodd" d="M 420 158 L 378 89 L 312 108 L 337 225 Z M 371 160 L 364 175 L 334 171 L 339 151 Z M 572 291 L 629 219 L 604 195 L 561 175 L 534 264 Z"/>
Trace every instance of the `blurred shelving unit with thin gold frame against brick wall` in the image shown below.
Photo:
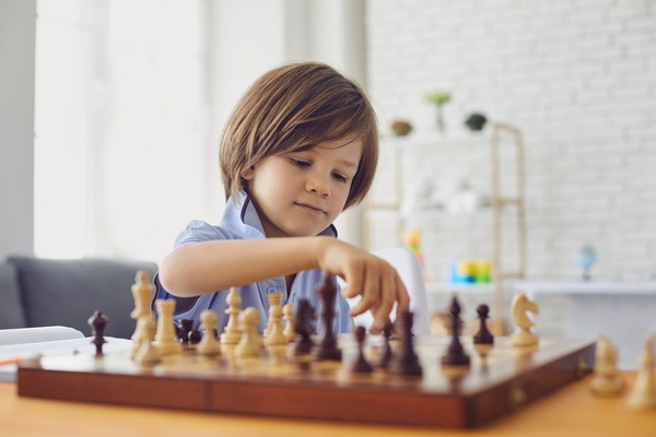
<path fill-rule="evenodd" d="M 384 172 L 391 172 L 393 175 L 386 174 L 386 178 L 380 181 L 383 185 L 377 186 L 378 191 L 387 194 L 386 199 L 379 199 L 379 196 L 374 193 L 364 205 L 364 241 L 367 249 L 373 247 L 372 221 L 376 220 L 376 214 L 388 213 L 393 214 L 396 220 L 394 226 L 395 241 L 394 245 L 403 245 L 402 235 L 406 232 L 408 216 L 402 211 L 403 196 L 407 192 L 408 184 L 408 165 L 405 160 L 410 154 L 415 155 L 415 158 L 421 161 L 421 157 L 429 157 L 430 154 L 435 154 L 436 147 L 449 147 L 453 152 L 446 153 L 454 161 L 457 160 L 458 150 L 462 147 L 479 147 L 481 153 L 476 154 L 478 160 L 475 166 L 487 167 L 489 175 L 485 179 L 479 179 L 479 184 L 485 184 L 491 187 L 490 206 L 491 217 L 479 214 L 477 220 L 492 221 L 492 263 L 493 275 L 491 290 L 494 294 L 492 305 L 492 315 L 494 319 L 491 322 L 492 329 L 499 333 L 505 332 L 503 291 L 507 280 L 523 279 L 526 271 L 526 214 L 525 214 L 525 193 L 524 193 L 524 144 L 522 132 L 509 125 L 491 123 L 488 135 L 472 134 L 467 138 L 459 139 L 442 139 L 435 135 L 420 135 L 408 138 L 394 138 L 387 140 L 386 160 L 387 167 Z M 446 149 L 440 150 L 444 152 Z M 473 155 L 473 154 L 470 154 Z M 471 158 L 471 156 L 470 156 Z M 449 157 L 445 157 L 449 160 Z M 482 161 L 484 160 L 484 161 Z M 509 165 L 509 168 L 508 168 Z M 506 180 L 506 179 L 511 180 Z M 507 192 L 508 189 L 514 192 Z M 391 199 L 390 199 L 391 198 Z M 479 211 L 480 213 L 480 211 Z M 512 213 L 512 221 L 508 216 Z M 447 212 L 437 209 L 425 209 L 412 212 L 412 218 L 421 218 L 427 222 L 436 223 Z M 462 218 L 459 218 L 465 221 Z M 512 241 L 516 247 L 512 248 L 508 245 L 508 235 L 511 231 L 516 233 Z M 513 253 L 509 253 L 513 251 Z M 504 256 L 514 255 L 516 262 L 513 268 L 506 268 Z M 430 286 L 429 290 L 447 290 L 447 284 L 438 286 Z M 480 288 L 480 286 L 479 286 Z M 488 287 L 485 287 L 488 288 Z"/>

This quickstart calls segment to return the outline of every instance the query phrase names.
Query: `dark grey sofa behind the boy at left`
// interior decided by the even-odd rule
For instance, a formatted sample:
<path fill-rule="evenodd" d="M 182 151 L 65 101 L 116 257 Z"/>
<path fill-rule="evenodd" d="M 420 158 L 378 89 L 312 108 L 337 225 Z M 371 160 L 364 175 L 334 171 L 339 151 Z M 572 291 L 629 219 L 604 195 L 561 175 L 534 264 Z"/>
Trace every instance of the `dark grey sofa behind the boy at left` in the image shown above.
<path fill-rule="evenodd" d="M 65 326 L 91 335 L 87 320 L 98 309 L 109 318 L 105 335 L 129 339 L 134 332 L 130 287 L 140 269 L 152 277 L 157 265 L 10 256 L 0 262 L 0 329 Z"/>

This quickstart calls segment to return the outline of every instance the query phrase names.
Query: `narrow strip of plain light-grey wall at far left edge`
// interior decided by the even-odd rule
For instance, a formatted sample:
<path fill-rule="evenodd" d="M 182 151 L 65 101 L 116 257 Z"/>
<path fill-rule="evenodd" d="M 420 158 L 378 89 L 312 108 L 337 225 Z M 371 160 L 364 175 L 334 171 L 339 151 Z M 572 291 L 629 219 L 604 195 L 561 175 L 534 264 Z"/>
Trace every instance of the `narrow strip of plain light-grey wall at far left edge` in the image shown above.
<path fill-rule="evenodd" d="M 0 0 L 0 259 L 33 251 L 35 0 Z"/>

